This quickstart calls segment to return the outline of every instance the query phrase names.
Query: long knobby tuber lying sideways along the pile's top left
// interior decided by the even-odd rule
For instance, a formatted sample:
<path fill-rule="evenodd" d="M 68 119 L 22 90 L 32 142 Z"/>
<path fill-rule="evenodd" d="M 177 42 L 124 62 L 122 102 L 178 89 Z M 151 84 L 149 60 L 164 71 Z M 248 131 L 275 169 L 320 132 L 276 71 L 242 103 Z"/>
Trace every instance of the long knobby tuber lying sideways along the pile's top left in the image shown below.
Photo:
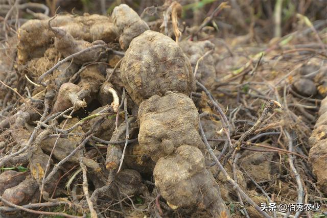
<path fill-rule="evenodd" d="M 49 19 L 29 20 L 18 29 L 18 60 L 25 64 L 32 58 L 43 56 L 44 51 L 53 42 L 55 34 L 49 29 Z M 101 15 L 58 15 L 52 21 L 53 27 L 60 27 L 74 38 L 88 42 L 103 40 L 114 42 L 118 31 L 107 16 Z M 38 40 L 35 40 L 35 39 Z"/>

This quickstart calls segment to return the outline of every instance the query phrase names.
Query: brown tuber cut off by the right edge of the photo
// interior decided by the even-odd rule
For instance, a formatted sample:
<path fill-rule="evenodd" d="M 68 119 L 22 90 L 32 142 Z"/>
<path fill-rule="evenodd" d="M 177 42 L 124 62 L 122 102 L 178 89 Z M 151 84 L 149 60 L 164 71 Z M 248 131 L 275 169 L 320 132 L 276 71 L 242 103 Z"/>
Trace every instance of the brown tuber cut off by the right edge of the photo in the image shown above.
<path fill-rule="evenodd" d="M 313 173 L 317 176 L 320 190 L 327 195 L 327 97 L 321 101 L 319 115 L 315 129 L 309 138 L 311 149 L 309 161 Z"/>

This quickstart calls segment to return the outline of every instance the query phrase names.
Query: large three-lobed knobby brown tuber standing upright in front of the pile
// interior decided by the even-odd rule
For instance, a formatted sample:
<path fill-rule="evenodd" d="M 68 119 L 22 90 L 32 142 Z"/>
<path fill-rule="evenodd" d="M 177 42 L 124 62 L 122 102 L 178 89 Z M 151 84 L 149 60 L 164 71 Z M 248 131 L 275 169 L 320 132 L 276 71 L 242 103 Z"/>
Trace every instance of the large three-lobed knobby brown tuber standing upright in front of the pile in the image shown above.
<path fill-rule="evenodd" d="M 152 160 L 155 184 L 172 209 L 194 208 L 215 217 L 228 210 L 206 169 L 199 114 L 187 95 L 195 89 L 189 59 L 171 38 L 153 31 L 135 37 L 121 63 L 121 77 L 139 104 L 141 150 Z"/>

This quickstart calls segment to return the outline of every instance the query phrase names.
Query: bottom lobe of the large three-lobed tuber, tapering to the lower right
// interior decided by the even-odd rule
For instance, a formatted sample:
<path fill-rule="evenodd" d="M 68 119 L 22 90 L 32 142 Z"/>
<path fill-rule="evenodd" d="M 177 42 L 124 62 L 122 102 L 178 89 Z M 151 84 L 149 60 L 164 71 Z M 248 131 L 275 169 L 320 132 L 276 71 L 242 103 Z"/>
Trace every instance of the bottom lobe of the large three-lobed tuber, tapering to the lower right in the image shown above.
<path fill-rule="evenodd" d="M 198 207 L 207 209 L 214 217 L 227 216 L 217 183 L 205 168 L 199 149 L 178 147 L 173 155 L 158 160 L 153 175 L 170 207 Z"/>

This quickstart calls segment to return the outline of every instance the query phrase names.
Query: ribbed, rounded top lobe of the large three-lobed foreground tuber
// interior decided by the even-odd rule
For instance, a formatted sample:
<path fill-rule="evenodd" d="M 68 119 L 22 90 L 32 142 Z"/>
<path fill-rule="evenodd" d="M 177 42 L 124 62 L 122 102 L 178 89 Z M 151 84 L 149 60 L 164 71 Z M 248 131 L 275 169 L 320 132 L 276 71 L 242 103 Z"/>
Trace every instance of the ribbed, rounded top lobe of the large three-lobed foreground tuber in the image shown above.
<path fill-rule="evenodd" d="M 171 38 L 150 30 L 130 43 L 121 77 L 136 104 L 167 91 L 190 94 L 195 90 L 191 64 L 181 48 Z"/>

